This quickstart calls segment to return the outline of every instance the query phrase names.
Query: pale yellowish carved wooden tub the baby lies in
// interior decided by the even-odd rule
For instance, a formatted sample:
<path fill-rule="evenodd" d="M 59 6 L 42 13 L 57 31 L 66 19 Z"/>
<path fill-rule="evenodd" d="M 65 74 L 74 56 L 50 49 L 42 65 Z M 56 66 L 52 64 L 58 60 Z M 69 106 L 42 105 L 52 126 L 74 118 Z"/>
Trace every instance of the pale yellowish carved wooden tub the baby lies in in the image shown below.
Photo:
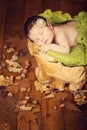
<path fill-rule="evenodd" d="M 60 62 L 56 62 L 52 57 L 43 54 L 40 48 L 29 40 L 28 49 L 37 62 L 35 74 L 38 82 L 49 82 L 52 87 L 59 90 L 64 90 L 66 84 L 73 91 L 81 89 L 84 86 L 86 82 L 85 67 L 64 66 Z"/>

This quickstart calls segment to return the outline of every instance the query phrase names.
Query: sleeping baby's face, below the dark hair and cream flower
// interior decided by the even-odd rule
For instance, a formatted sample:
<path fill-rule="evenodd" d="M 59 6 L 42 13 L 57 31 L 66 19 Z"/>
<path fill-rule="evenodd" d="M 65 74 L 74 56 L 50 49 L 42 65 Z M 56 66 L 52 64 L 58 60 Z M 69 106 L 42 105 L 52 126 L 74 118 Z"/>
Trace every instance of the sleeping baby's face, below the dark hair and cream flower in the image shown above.
<path fill-rule="evenodd" d="M 41 27 L 34 24 L 29 32 L 29 38 L 38 46 L 42 46 L 53 41 L 54 33 L 49 26 Z"/>

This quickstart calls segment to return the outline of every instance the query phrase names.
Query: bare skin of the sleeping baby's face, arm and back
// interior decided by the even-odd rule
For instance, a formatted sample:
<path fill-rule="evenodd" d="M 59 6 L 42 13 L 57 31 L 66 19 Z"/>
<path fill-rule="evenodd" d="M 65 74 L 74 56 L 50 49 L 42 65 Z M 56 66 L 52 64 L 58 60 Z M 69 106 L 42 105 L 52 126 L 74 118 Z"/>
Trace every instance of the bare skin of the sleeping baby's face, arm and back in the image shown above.
<path fill-rule="evenodd" d="M 46 53 L 48 50 L 68 54 L 72 46 L 77 45 L 78 32 L 75 28 L 76 22 L 68 22 L 59 26 L 48 26 L 39 28 L 36 24 L 32 27 L 29 37 L 41 47 L 41 51 Z M 54 40 L 54 44 L 52 43 Z"/>

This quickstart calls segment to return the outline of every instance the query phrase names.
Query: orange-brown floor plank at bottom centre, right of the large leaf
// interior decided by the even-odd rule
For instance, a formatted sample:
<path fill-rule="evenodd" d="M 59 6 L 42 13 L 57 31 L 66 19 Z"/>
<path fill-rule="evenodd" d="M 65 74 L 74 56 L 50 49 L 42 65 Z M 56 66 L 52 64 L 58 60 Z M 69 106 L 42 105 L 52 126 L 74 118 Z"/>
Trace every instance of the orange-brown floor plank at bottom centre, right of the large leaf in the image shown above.
<path fill-rule="evenodd" d="M 61 130 L 63 126 L 61 122 L 61 112 L 60 110 L 54 109 L 54 98 L 44 99 L 43 102 L 43 120 L 44 122 L 42 128 L 43 130 Z"/>

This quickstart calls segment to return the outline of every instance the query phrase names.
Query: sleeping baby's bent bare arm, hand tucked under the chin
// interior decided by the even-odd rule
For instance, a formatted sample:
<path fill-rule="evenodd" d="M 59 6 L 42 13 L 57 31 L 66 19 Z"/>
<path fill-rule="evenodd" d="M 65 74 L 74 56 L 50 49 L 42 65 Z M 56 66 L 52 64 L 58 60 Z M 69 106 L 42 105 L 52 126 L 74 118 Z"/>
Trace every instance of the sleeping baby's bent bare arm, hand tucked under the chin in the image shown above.
<path fill-rule="evenodd" d="M 41 47 L 41 51 L 46 53 L 48 50 L 53 50 L 63 54 L 68 54 L 70 52 L 70 44 L 71 40 L 67 33 L 63 30 L 59 30 L 58 34 L 55 36 L 55 44 L 45 44 Z"/>

